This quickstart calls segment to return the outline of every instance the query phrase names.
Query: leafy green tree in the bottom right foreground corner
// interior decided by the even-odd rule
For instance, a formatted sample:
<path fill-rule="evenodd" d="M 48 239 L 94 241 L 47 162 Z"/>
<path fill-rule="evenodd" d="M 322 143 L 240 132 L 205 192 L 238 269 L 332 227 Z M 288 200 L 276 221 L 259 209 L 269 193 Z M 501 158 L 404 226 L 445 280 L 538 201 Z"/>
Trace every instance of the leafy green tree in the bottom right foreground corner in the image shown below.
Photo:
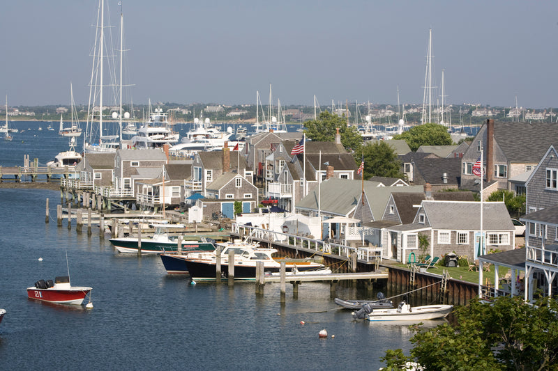
<path fill-rule="evenodd" d="M 473 299 L 454 311 L 455 326 L 412 326 L 411 356 L 389 350 L 382 361 L 389 367 L 415 361 L 429 371 L 558 370 L 557 309 L 549 298 L 536 306 L 520 297 Z"/>

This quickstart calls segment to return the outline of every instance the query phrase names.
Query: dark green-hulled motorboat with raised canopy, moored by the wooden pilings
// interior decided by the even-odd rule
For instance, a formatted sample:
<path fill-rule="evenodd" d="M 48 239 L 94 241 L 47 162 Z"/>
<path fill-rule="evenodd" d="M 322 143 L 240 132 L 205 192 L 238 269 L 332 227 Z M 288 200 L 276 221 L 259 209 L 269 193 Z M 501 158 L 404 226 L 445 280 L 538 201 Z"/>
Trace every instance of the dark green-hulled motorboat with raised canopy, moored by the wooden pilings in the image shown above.
<path fill-rule="evenodd" d="M 178 236 L 170 236 L 169 228 L 183 229 L 183 224 L 152 224 L 155 233 L 151 237 L 142 237 L 142 253 L 159 254 L 178 251 Z M 120 237 L 109 239 L 119 253 L 137 253 L 137 237 Z M 209 239 L 188 240 L 181 243 L 183 251 L 213 251 L 215 245 Z"/>

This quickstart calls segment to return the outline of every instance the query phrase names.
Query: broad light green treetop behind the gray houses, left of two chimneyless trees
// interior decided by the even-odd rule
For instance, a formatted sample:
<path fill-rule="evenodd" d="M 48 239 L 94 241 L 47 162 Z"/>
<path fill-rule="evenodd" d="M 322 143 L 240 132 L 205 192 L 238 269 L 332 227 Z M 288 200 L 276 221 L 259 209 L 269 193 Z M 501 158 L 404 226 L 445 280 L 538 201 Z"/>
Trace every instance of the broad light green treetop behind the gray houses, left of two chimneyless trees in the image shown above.
<path fill-rule="evenodd" d="M 339 128 L 339 134 L 341 134 L 341 144 L 347 150 L 356 151 L 361 148 L 363 142 L 358 129 L 354 126 L 347 126 L 345 117 L 333 115 L 328 111 L 320 113 L 319 118 L 316 120 L 306 121 L 304 126 L 306 126 L 306 130 L 304 130 L 306 137 L 312 141 L 333 142 L 335 141 L 337 128 Z"/>

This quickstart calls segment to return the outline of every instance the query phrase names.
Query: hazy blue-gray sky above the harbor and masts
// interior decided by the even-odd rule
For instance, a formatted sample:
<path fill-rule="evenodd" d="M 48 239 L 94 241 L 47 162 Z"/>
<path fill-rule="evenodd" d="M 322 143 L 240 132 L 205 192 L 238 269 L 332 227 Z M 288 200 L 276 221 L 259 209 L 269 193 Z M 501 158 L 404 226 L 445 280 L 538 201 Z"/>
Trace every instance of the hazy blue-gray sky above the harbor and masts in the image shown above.
<path fill-rule="evenodd" d="M 106 1 L 115 52 L 120 6 Z M 558 107 L 558 1 L 123 0 L 124 100 Z M 10 106 L 86 104 L 98 0 L 6 1 Z M 106 25 L 106 24 L 105 24 Z M 105 83 L 107 79 L 105 78 Z M 435 102 L 433 102 L 435 103 Z"/>

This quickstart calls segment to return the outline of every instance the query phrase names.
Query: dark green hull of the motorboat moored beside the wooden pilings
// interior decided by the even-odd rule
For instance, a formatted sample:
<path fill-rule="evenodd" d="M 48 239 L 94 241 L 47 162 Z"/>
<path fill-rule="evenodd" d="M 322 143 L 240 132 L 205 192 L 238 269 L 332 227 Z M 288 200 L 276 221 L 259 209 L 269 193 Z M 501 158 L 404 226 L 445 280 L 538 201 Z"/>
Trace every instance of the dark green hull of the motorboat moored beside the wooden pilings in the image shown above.
<path fill-rule="evenodd" d="M 110 243 L 120 253 L 137 253 L 137 238 L 112 238 Z M 211 242 L 183 241 L 183 251 L 213 251 L 215 246 Z M 177 252 L 178 242 L 153 242 L 142 239 L 142 253 L 160 254 L 165 252 Z"/>

